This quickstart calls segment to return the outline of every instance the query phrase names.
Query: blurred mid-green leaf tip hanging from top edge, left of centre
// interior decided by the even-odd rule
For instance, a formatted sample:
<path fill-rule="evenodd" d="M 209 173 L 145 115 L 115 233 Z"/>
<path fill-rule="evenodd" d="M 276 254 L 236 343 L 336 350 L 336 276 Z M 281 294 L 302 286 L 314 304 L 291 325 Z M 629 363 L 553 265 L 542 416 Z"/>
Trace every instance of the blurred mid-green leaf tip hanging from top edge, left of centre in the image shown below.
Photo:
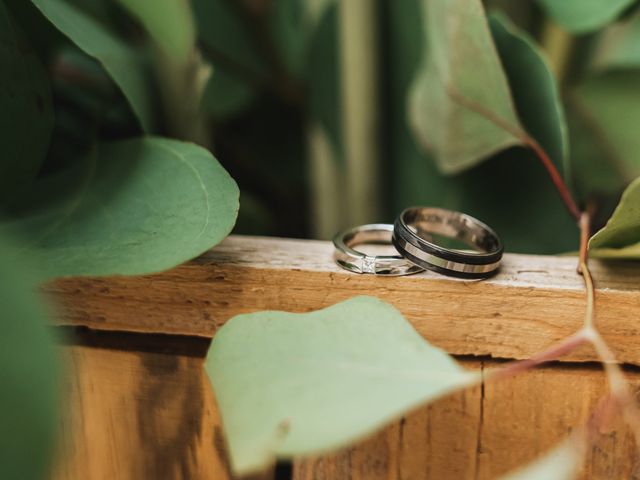
<path fill-rule="evenodd" d="M 195 22 L 185 0 L 119 0 L 163 51 L 186 62 L 196 41 Z"/>

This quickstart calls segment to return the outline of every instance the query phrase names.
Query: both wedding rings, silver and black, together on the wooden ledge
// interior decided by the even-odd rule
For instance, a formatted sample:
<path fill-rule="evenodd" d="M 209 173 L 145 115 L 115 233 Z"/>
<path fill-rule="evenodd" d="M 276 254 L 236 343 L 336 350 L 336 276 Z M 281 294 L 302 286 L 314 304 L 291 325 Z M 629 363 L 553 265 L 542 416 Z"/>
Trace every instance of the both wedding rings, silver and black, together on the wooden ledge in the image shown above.
<path fill-rule="evenodd" d="M 437 245 L 434 235 L 459 240 L 473 250 Z M 399 255 L 367 255 L 353 247 L 364 243 L 393 244 Z M 459 278 L 486 278 L 495 273 L 503 247 L 487 225 L 460 212 L 413 207 L 404 210 L 394 225 L 362 225 L 333 239 L 334 258 L 355 273 L 410 275 L 432 270 Z"/>

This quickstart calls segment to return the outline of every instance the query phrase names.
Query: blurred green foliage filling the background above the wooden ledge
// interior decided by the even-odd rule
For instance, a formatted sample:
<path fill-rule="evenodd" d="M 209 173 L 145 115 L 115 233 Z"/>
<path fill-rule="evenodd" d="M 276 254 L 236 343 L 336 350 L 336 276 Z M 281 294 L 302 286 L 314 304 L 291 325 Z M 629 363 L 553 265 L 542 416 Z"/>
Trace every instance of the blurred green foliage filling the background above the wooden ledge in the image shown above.
<path fill-rule="evenodd" d="M 372 221 L 442 206 L 508 251 L 575 250 L 535 142 L 605 224 L 640 175 L 637 1 L 375 5 Z M 311 126 L 345 181 L 343 27 L 340 0 L 0 0 L 0 232 L 19 245 L 5 257 L 35 255 L 48 276 L 170 268 L 229 233 L 235 182 L 237 232 L 310 236 L 327 181 Z M 629 188 L 602 255 L 638 256 Z"/>

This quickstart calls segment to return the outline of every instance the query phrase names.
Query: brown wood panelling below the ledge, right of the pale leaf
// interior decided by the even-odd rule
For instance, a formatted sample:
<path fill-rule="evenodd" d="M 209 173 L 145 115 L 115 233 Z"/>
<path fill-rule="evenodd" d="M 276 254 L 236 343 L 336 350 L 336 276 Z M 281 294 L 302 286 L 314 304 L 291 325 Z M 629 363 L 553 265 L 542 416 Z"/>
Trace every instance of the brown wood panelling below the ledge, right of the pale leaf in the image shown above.
<path fill-rule="evenodd" d="M 640 375 L 630 380 L 637 391 Z M 566 438 L 605 392 L 603 374 L 591 366 L 529 371 L 446 397 L 347 451 L 299 461 L 294 479 L 493 479 Z M 640 478 L 639 460 L 631 434 L 617 418 L 599 433 L 582 478 Z"/>

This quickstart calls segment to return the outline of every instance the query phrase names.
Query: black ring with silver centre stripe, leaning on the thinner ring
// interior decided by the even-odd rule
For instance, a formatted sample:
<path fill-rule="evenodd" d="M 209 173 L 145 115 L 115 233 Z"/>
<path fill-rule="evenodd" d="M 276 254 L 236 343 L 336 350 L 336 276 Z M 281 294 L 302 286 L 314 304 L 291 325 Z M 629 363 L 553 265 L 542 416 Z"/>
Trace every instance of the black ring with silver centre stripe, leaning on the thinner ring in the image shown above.
<path fill-rule="evenodd" d="M 432 234 L 460 240 L 474 251 L 444 248 Z M 400 254 L 415 265 L 459 278 L 486 278 L 498 270 L 502 242 L 487 225 L 464 213 L 413 207 L 396 219 L 392 238 Z"/>

